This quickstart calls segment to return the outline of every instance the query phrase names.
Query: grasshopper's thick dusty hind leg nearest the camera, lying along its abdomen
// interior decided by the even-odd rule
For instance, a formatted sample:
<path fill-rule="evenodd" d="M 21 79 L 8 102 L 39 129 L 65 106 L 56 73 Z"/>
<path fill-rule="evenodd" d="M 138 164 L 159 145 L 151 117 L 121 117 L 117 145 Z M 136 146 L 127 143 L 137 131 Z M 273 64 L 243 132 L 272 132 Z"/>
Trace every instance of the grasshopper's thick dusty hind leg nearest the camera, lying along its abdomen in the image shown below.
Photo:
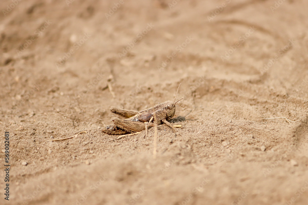
<path fill-rule="evenodd" d="M 143 123 L 139 121 L 121 120 L 119 118 L 113 118 L 113 124 L 127 132 L 140 132 L 145 130 L 145 126 L 152 127 L 154 123 Z"/>

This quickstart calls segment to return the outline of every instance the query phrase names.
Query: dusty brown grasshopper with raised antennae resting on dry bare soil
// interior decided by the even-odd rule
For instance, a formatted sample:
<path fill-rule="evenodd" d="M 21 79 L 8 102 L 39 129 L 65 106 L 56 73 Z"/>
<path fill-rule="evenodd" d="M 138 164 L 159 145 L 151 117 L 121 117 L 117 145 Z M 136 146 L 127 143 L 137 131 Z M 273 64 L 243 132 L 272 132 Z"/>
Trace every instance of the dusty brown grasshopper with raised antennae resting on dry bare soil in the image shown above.
<path fill-rule="evenodd" d="M 122 120 L 117 117 L 113 118 L 113 124 L 103 128 L 103 132 L 109 135 L 123 135 L 132 132 L 140 132 L 146 130 L 148 132 L 148 127 L 153 127 L 156 124 L 166 124 L 176 132 L 175 128 L 167 121 L 174 116 L 175 104 L 182 100 L 176 100 L 177 93 L 179 92 L 181 84 L 179 85 L 174 101 L 165 101 L 155 105 L 152 108 L 142 110 L 140 112 L 135 110 L 125 110 L 115 107 L 111 107 L 110 111 L 119 114 L 121 116 L 127 117 L 127 119 Z M 148 134 L 148 133 L 147 133 Z"/>

